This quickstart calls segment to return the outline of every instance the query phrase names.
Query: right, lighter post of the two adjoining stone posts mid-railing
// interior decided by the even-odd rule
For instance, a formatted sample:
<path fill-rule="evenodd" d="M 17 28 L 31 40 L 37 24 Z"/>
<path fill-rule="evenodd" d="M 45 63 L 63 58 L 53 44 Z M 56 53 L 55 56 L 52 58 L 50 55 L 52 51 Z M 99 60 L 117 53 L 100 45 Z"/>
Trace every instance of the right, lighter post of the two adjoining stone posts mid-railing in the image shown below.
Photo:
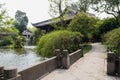
<path fill-rule="evenodd" d="M 68 50 L 63 50 L 62 55 L 63 55 L 62 66 L 63 68 L 68 69 L 70 67 L 70 58 L 69 58 Z"/>

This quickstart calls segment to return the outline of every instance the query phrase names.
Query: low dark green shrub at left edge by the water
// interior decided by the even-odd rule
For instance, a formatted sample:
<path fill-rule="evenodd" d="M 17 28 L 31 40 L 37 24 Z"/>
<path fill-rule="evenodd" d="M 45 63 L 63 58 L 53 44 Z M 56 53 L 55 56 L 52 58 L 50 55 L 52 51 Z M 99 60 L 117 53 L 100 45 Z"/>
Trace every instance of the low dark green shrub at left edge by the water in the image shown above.
<path fill-rule="evenodd" d="M 0 46 L 7 46 L 11 45 L 13 43 L 13 39 L 11 36 L 3 37 L 3 39 L 0 41 Z"/>

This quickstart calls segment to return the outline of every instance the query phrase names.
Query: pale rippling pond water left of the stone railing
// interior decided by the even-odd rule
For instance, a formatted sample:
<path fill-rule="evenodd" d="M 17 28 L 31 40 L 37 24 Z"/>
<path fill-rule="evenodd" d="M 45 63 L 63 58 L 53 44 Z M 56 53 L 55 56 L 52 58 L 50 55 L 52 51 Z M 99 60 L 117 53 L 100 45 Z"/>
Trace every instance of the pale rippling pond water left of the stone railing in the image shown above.
<path fill-rule="evenodd" d="M 41 57 L 35 53 L 33 46 L 22 50 L 0 49 L 0 66 L 17 67 L 21 71 L 40 61 Z"/>

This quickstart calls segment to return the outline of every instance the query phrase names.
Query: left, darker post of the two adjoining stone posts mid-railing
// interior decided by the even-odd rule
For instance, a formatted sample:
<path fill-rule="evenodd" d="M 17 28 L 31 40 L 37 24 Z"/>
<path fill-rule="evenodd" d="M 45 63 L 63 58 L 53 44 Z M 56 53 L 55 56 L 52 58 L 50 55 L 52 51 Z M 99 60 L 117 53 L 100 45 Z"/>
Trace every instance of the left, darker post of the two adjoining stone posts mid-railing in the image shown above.
<path fill-rule="evenodd" d="M 55 55 L 57 56 L 56 58 L 57 68 L 61 68 L 62 67 L 62 54 L 61 54 L 60 49 L 55 50 Z"/>

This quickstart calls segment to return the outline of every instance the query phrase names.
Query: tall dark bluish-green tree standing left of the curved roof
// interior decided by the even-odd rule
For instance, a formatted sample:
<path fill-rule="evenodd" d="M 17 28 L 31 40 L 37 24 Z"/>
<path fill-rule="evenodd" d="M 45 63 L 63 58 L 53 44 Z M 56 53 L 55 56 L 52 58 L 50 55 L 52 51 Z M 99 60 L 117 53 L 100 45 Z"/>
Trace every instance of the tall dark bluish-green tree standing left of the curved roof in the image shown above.
<path fill-rule="evenodd" d="M 15 14 L 15 27 L 20 31 L 20 34 L 27 28 L 28 17 L 25 12 L 17 11 Z"/>

